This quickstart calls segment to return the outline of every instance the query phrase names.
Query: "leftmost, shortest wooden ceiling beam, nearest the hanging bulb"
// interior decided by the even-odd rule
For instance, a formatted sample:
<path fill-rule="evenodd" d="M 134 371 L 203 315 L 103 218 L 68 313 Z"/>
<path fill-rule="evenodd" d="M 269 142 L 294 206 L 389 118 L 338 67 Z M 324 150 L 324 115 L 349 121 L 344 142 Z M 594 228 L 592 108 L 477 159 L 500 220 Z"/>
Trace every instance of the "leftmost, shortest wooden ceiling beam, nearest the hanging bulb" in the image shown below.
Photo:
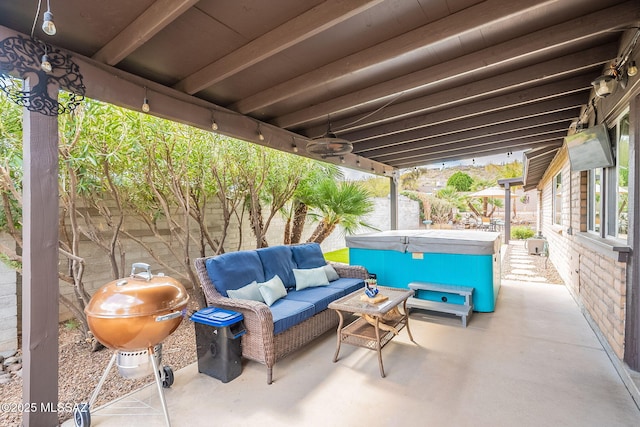
<path fill-rule="evenodd" d="M 157 0 L 109 43 L 93 59 L 115 65 L 146 43 L 199 0 Z"/>

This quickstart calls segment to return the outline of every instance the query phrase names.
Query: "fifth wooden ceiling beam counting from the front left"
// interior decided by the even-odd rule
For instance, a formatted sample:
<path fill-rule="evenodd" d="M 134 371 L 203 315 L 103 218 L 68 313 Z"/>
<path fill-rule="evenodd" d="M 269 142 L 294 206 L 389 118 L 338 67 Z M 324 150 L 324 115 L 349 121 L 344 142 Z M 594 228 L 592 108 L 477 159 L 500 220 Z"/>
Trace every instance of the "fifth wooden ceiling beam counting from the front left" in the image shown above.
<path fill-rule="evenodd" d="M 350 130 L 361 129 L 376 124 L 401 120 L 408 116 L 431 111 L 463 106 L 483 98 L 496 97 L 529 86 L 537 86 L 555 79 L 564 79 L 585 70 L 594 71 L 615 58 L 618 45 L 615 42 L 596 46 L 592 49 L 565 55 L 550 61 L 520 68 L 508 73 L 478 80 L 452 89 L 392 104 L 375 115 L 362 114 L 348 119 L 332 120 L 333 131 L 344 137 Z M 598 73 L 599 71 L 596 71 Z M 587 100 L 585 100 L 586 103 Z M 362 120 L 360 120 L 362 119 Z M 358 121 L 360 120 L 360 121 Z M 322 135 L 318 126 L 305 132 L 310 138 Z"/>

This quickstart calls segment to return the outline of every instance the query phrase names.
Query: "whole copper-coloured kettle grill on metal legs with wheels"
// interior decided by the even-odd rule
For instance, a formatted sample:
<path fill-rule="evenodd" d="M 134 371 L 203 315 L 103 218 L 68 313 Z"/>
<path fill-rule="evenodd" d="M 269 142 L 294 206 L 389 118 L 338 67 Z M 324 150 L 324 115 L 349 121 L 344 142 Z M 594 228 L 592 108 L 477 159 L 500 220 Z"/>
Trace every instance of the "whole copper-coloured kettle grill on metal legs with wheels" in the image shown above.
<path fill-rule="evenodd" d="M 143 271 L 136 272 L 139 269 Z M 180 325 L 188 301 L 180 282 L 163 274 L 154 276 L 144 263 L 133 264 L 130 277 L 98 289 L 84 311 L 93 335 L 114 353 L 89 402 L 74 410 L 77 427 L 90 426 L 90 408 L 116 362 L 124 378 L 154 375 L 165 421 L 171 425 L 163 387 L 173 384 L 173 371 L 169 366 L 160 369 L 161 342 Z"/>

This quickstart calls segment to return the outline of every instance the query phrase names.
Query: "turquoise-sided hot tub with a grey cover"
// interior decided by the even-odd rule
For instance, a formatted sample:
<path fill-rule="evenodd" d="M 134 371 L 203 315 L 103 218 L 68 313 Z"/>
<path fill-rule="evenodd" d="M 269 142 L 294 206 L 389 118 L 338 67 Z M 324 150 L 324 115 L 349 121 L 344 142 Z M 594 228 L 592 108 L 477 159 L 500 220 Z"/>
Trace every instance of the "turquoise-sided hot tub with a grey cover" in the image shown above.
<path fill-rule="evenodd" d="M 391 230 L 347 236 L 349 263 L 377 275 L 378 284 L 408 288 L 429 282 L 474 288 L 473 310 L 491 312 L 500 290 L 500 233 L 472 230 Z M 419 291 L 441 301 L 444 294 Z M 459 301 L 457 300 L 459 298 Z M 450 303 L 464 298 L 446 295 Z"/>

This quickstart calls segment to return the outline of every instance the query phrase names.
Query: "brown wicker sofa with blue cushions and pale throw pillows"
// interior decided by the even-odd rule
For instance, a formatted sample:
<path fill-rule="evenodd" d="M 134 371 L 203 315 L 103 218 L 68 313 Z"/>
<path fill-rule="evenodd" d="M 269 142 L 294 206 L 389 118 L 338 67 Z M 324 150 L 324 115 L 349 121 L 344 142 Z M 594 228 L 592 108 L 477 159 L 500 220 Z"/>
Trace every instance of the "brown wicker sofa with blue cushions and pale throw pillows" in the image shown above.
<path fill-rule="evenodd" d="M 242 336 L 242 355 L 267 366 L 268 384 L 278 360 L 337 326 L 338 316 L 327 305 L 364 286 L 368 277 L 364 267 L 326 265 L 316 243 L 229 252 L 195 261 L 207 304 L 243 314 L 247 332 Z M 328 269 L 325 277 L 334 280 L 297 289 L 301 277 L 311 273 L 317 277 L 320 268 Z M 256 285 L 264 293 L 265 282 L 278 281 L 276 275 L 286 288 L 284 296 L 275 302 L 267 298 L 266 303 L 259 301 L 260 295 L 258 300 L 243 298 L 247 289 L 255 292 Z"/>

